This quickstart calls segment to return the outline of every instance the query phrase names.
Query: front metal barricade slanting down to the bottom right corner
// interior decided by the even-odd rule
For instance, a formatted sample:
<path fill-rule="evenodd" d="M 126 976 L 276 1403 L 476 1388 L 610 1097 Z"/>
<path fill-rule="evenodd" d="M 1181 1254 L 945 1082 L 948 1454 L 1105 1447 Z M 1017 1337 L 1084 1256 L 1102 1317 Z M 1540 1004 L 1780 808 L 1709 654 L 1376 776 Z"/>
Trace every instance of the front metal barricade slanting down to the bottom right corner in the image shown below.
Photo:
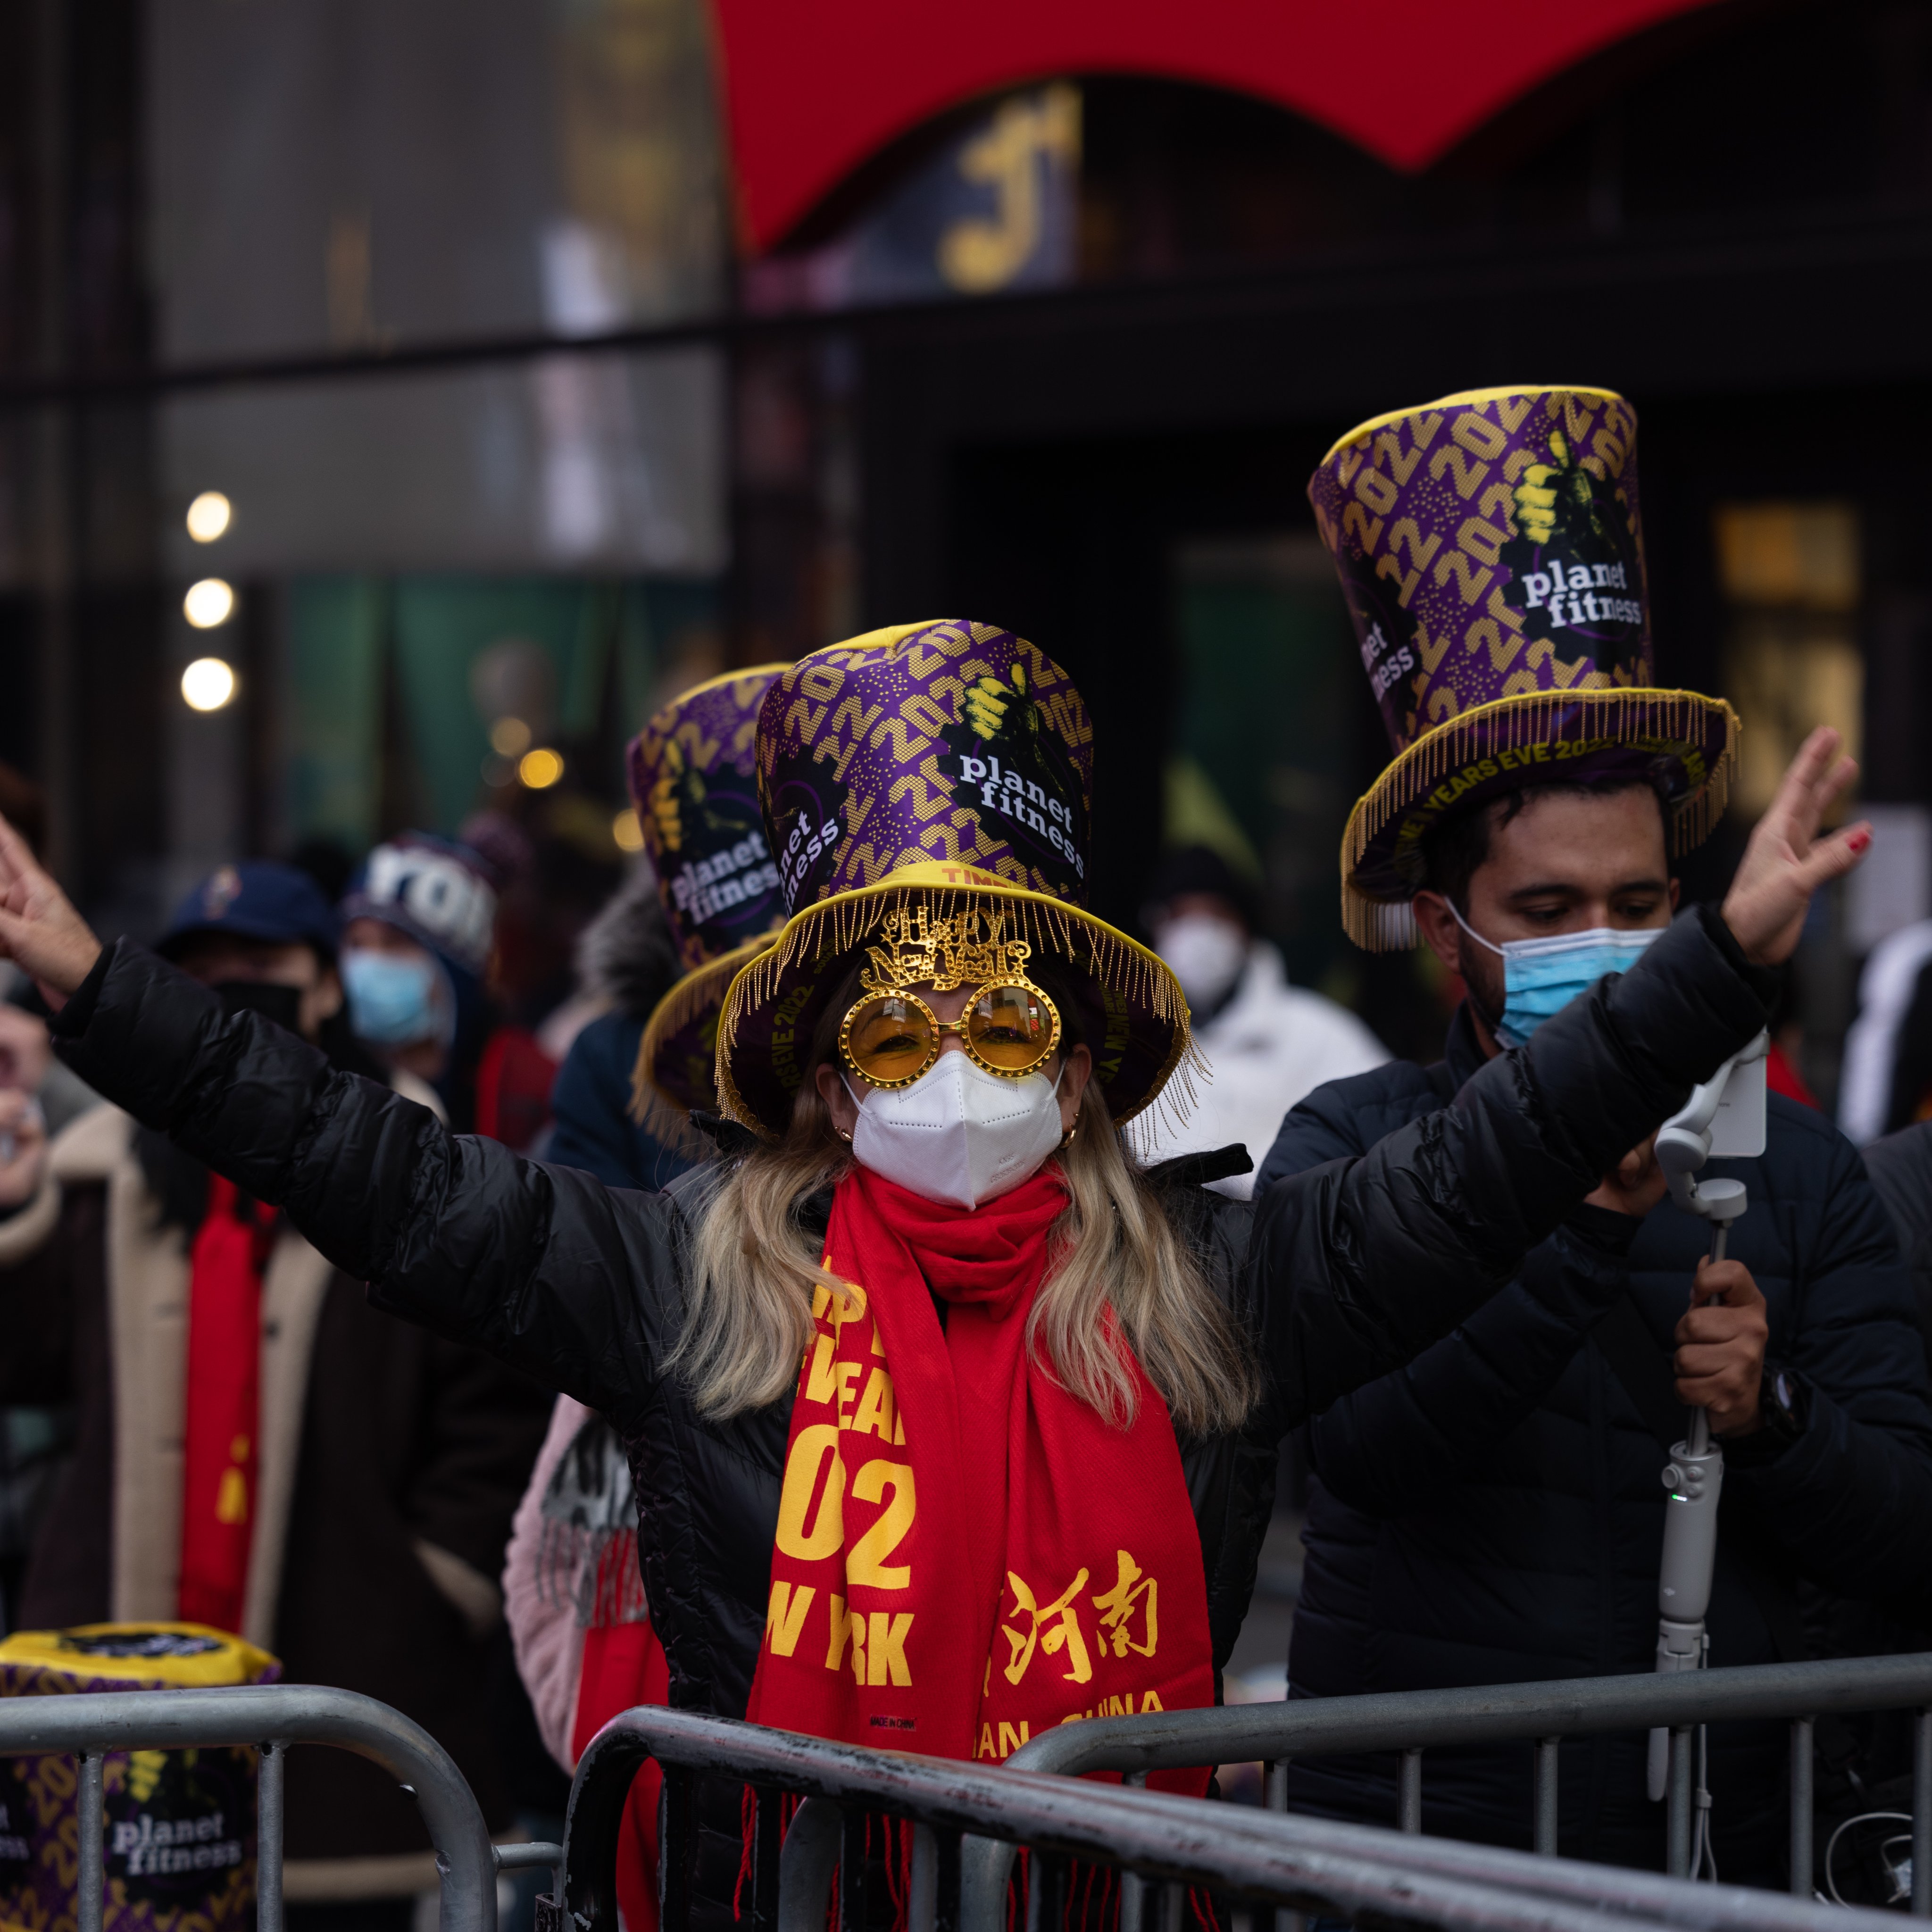
<path fill-rule="evenodd" d="M 1005 1932 L 1007 1872 L 995 1876 L 983 1862 L 974 1864 L 968 1853 L 976 1839 L 997 1839 L 1003 1851 L 1028 1847 L 1028 1932 L 1061 1924 L 1072 1861 L 1132 1874 L 1136 1889 L 1122 1888 L 1124 1928 L 1130 1903 L 1134 1922 L 1142 1918 L 1138 1886 L 1159 1886 L 1161 1932 L 1179 1932 L 1190 1886 L 1248 1907 L 1459 1932 L 1880 1932 L 1895 1924 L 1880 1913 L 1739 1886 L 1692 1886 L 1652 1872 L 1094 1785 L 1010 1764 L 862 1750 L 649 1708 L 612 1718 L 578 1766 L 564 1832 L 564 1901 L 539 1901 L 539 1932 L 618 1932 L 618 1832 L 632 1779 L 649 1758 L 665 1777 L 663 1932 L 688 1932 L 692 1920 L 703 1779 L 723 1781 L 717 1797 L 734 1826 L 738 1795 L 746 1787 L 753 1795 L 740 1872 L 740 1915 L 752 1932 L 825 1932 L 835 1872 L 838 1932 L 864 1932 L 867 1824 L 875 1814 L 914 1826 L 912 1932 Z M 802 1803 L 782 1830 L 786 1795 Z"/>

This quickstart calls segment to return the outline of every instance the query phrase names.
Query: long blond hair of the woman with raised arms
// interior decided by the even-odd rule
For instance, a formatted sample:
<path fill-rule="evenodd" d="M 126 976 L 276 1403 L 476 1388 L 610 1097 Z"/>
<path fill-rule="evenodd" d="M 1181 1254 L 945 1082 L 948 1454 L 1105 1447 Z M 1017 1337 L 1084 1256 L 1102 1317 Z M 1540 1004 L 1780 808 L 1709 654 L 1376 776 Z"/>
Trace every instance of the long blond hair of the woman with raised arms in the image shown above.
<path fill-rule="evenodd" d="M 819 1034 L 784 1138 L 738 1161 L 697 1209 L 690 1308 L 667 1366 L 711 1420 L 784 1397 L 811 1341 L 813 1293 L 829 1281 L 804 1206 L 852 1169 L 852 1151 L 813 1078 L 831 1047 L 829 1028 Z M 1095 1082 L 1057 1161 L 1068 1200 L 1049 1231 L 1047 1273 L 1026 1323 L 1034 1360 L 1124 1428 L 1138 1406 L 1124 1347 L 1177 1430 L 1238 1428 L 1260 1397 L 1254 1356 L 1122 1146 Z"/>

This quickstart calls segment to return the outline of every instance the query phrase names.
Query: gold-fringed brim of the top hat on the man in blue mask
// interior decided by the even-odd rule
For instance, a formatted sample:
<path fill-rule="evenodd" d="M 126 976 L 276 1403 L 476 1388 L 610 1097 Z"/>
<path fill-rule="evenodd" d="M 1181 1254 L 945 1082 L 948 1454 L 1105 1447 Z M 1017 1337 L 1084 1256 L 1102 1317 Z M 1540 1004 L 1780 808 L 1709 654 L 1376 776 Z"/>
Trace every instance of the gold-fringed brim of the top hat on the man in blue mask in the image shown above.
<path fill-rule="evenodd" d="M 1721 717 L 1723 750 L 1704 782 L 1671 813 L 1671 852 L 1683 856 L 1712 835 L 1731 800 L 1731 773 L 1737 765 L 1739 721 L 1725 699 L 1706 697 L 1702 692 L 1662 692 L 1644 684 L 1607 692 L 1524 692 L 1519 697 L 1495 697 L 1424 732 L 1349 813 L 1341 835 L 1341 923 L 1358 947 L 1393 952 L 1416 943 L 1406 898 L 1372 898 L 1354 883 L 1356 867 L 1376 838 L 1418 798 L 1474 759 L 1548 742 L 1559 715 L 1571 707 L 1594 713 L 1602 736 L 1627 744 L 1642 736 L 1698 744 L 1712 715 Z M 1551 771 L 1551 777 L 1557 775 Z"/>

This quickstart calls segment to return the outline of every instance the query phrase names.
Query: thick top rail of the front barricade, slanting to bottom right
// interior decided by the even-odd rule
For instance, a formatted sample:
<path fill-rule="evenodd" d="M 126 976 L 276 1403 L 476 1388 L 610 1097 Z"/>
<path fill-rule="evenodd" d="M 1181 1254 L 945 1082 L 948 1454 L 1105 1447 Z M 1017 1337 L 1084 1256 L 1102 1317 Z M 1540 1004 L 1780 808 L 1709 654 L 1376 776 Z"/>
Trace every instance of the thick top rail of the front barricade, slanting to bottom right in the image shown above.
<path fill-rule="evenodd" d="M 580 1814 L 603 1814 L 611 1803 L 614 1814 L 622 1812 L 622 1789 L 614 1801 L 591 1803 L 591 1793 L 601 1783 L 628 1789 L 628 1776 L 605 1774 L 634 1770 L 645 1754 L 657 1756 L 667 1776 L 678 1766 L 740 1783 L 782 1783 L 846 1808 L 918 1816 L 939 1830 L 983 1837 L 1024 1837 L 1049 1855 L 1300 1909 L 1339 1905 L 1345 1913 L 1379 1911 L 1488 1932 L 1602 1932 L 1609 1922 L 1605 1913 L 1648 1915 L 1656 1924 L 1704 1932 L 1882 1932 L 1888 1924 L 1876 1913 L 1806 1905 L 1739 1886 L 1683 1886 L 1650 1872 L 1536 1859 L 1526 1851 L 1403 1837 L 1235 1804 L 1208 1808 L 1198 1799 L 1016 1772 L 1010 1762 L 995 1770 L 869 1752 L 680 1710 L 624 1712 L 591 1741 L 572 1791 L 566 1849 Z M 572 1866 L 572 1893 L 576 1888 Z M 1003 1888 L 981 1893 L 981 1901 L 997 1901 L 999 1917 L 974 1920 L 962 1903 L 966 1932 L 1005 1924 Z"/>

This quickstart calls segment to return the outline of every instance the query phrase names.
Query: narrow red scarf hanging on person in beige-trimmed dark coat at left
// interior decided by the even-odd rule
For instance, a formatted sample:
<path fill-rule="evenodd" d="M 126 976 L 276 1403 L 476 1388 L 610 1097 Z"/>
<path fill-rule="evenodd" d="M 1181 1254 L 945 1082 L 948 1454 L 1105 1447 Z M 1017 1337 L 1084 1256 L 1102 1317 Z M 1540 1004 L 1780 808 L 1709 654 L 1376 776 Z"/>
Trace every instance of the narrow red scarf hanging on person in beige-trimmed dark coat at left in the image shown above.
<path fill-rule="evenodd" d="M 274 1213 L 209 1177 L 209 1213 L 187 1277 L 187 1406 L 182 1468 L 184 1623 L 242 1629 L 255 1530 L 261 1422 L 261 1277 Z"/>

